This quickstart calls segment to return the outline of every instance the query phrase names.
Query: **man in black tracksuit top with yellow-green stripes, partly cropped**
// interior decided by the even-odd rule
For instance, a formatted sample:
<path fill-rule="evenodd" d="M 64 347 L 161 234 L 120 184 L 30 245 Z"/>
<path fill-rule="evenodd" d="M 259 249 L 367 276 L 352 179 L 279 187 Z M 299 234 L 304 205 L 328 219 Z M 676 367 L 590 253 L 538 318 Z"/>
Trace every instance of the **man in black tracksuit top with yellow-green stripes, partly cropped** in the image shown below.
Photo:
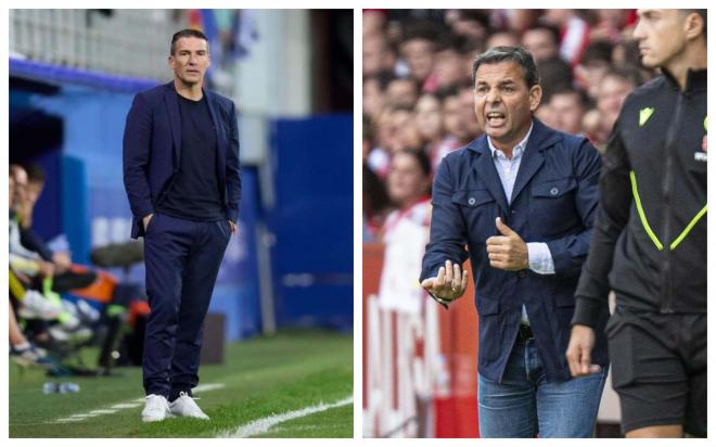
<path fill-rule="evenodd" d="M 606 325 L 627 437 L 706 436 L 706 10 L 639 10 L 642 63 L 662 76 L 624 103 L 604 154 L 567 348 L 590 371 Z"/>

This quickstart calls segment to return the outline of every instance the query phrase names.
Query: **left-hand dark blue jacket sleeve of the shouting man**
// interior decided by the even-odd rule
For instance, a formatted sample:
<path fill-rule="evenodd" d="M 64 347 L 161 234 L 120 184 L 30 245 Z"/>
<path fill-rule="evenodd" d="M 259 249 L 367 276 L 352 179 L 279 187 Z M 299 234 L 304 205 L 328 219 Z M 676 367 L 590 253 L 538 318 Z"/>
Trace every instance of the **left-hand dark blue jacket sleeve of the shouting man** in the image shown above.
<path fill-rule="evenodd" d="M 460 265 L 468 259 L 466 231 L 459 205 L 452 203 L 453 184 L 449 164 L 443 159 L 433 182 L 430 243 L 425 247 L 420 281 L 436 277 L 448 259 Z"/>

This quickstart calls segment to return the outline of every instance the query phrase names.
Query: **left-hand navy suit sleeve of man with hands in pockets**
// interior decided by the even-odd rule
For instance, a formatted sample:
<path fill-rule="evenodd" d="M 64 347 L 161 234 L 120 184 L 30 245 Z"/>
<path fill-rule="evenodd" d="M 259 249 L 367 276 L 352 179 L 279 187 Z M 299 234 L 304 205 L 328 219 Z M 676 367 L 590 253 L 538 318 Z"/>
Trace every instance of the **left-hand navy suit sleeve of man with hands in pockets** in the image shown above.
<path fill-rule="evenodd" d="M 151 142 L 152 112 L 139 93 L 127 114 L 123 139 L 123 167 L 129 207 L 135 218 L 140 220 L 154 213 L 146 178 Z"/>

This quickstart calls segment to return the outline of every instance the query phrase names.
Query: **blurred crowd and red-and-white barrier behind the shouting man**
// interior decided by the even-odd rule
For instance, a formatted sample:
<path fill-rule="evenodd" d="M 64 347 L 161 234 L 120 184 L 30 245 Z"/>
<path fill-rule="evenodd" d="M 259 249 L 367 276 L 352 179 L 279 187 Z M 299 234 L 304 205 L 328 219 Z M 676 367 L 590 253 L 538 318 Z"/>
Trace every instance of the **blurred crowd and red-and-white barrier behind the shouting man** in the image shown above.
<path fill-rule="evenodd" d="M 475 56 L 524 46 L 544 89 L 536 116 L 603 150 L 626 95 L 654 76 L 635 24 L 614 9 L 362 11 L 363 436 L 478 436 L 472 289 L 446 311 L 417 280 L 433 173 L 482 133 Z M 619 435 L 611 380 L 598 421 L 598 436 Z"/>

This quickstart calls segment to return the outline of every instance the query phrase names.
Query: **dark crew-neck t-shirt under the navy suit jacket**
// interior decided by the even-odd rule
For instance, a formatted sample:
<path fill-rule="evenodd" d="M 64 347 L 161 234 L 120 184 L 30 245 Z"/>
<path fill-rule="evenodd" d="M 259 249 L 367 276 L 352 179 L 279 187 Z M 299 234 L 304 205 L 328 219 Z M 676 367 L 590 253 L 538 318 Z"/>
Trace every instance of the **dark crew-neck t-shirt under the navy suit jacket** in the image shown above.
<path fill-rule="evenodd" d="M 179 170 L 157 210 L 189 220 L 226 219 L 216 175 L 216 131 L 206 97 L 192 101 L 177 94 L 181 115 Z"/>

